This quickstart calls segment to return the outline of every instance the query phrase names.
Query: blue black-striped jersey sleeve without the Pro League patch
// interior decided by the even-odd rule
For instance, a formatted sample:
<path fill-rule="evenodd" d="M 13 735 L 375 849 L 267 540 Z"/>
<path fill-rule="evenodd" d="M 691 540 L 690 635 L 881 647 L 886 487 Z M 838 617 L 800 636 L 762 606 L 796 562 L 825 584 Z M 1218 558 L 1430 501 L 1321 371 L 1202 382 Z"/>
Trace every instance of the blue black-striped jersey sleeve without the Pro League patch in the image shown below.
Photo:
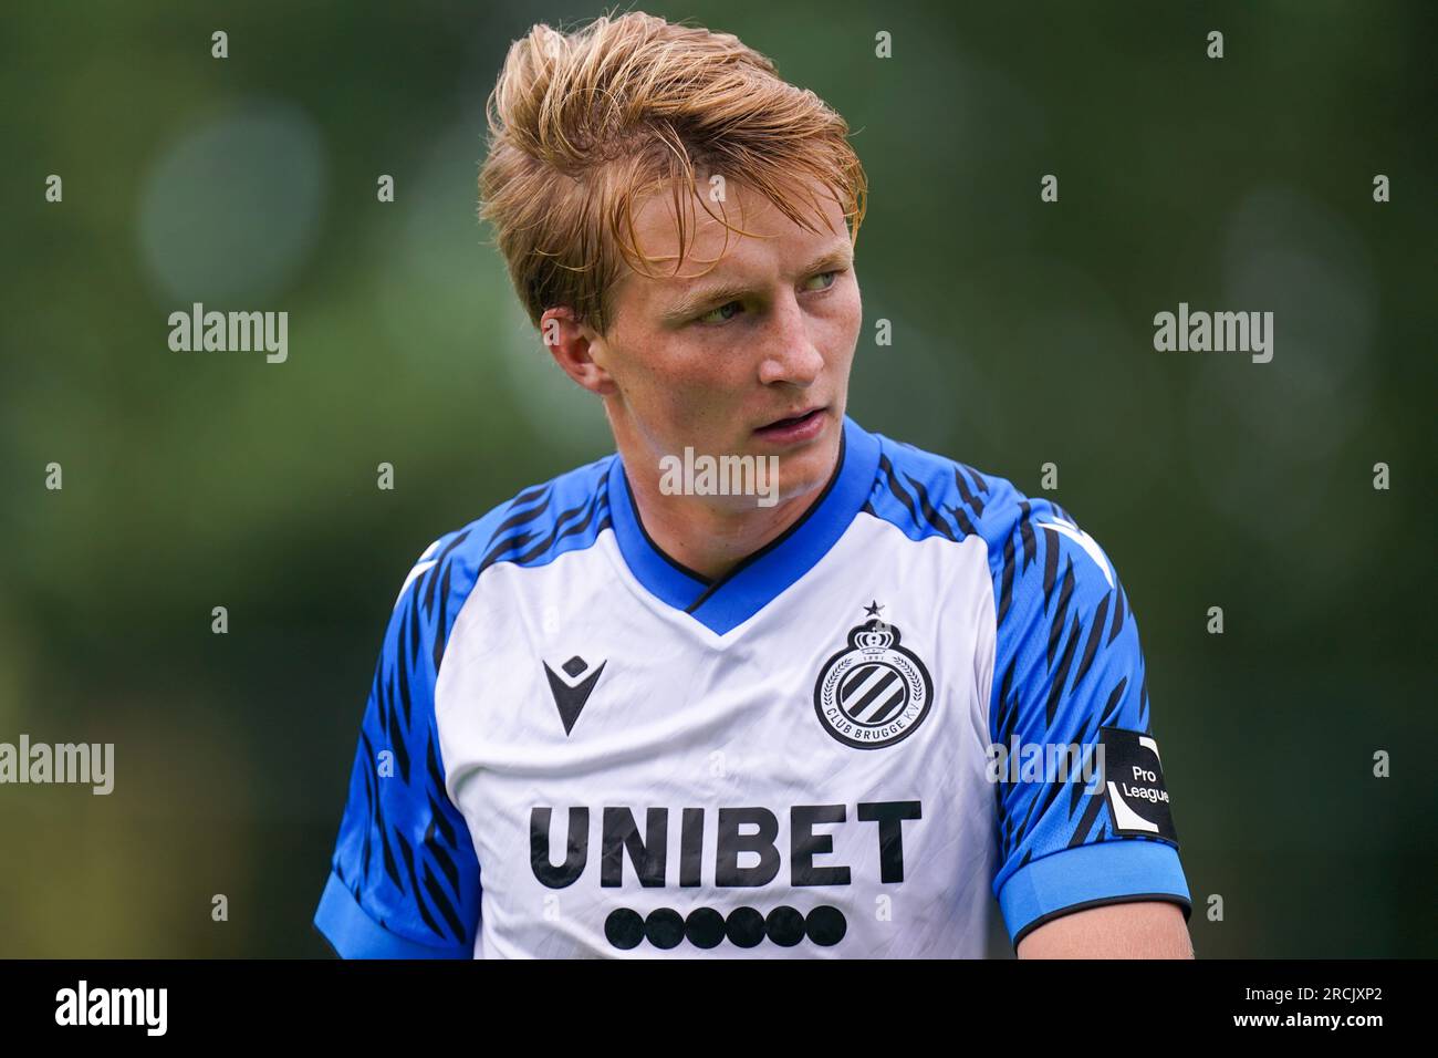
<path fill-rule="evenodd" d="M 436 643 L 443 646 L 450 602 L 447 543 L 436 541 L 400 589 L 360 727 L 313 920 L 345 959 L 473 957 L 479 861 L 444 789 L 434 721 Z"/>

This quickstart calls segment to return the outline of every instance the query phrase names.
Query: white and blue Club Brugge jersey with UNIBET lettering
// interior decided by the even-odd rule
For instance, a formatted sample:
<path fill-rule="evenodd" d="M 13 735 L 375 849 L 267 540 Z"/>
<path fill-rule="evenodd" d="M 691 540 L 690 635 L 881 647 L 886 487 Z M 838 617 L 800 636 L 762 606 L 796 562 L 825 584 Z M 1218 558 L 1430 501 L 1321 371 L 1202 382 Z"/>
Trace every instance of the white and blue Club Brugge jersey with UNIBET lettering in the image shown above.
<path fill-rule="evenodd" d="M 1168 808 L 1100 547 L 846 419 L 823 497 L 718 582 L 649 540 L 618 455 L 431 544 L 315 926 L 347 957 L 976 957 L 995 907 L 1015 944 L 1188 915 Z"/>

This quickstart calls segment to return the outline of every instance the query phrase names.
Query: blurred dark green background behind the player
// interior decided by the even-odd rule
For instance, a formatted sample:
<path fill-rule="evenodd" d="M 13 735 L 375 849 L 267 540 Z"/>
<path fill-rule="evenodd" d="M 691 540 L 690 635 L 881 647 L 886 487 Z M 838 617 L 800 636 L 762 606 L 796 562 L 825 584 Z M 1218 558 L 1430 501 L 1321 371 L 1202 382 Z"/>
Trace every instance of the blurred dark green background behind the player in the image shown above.
<path fill-rule="evenodd" d="M 1431 956 L 1434 7 L 1001 7 L 643 10 L 848 119 L 851 415 L 1025 491 L 1058 464 L 1140 620 L 1198 954 Z M 116 744 L 108 797 L 0 786 L 0 956 L 328 954 L 309 920 L 400 582 L 611 451 L 475 220 L 509 42 L 600 13 L 0 14 L 0 741 Z M 170 351 L 191 301 L 288 311 L 288 363 Z M 1274 360 L 1156 353 L 1181 301 L 1273 311 Z"/>

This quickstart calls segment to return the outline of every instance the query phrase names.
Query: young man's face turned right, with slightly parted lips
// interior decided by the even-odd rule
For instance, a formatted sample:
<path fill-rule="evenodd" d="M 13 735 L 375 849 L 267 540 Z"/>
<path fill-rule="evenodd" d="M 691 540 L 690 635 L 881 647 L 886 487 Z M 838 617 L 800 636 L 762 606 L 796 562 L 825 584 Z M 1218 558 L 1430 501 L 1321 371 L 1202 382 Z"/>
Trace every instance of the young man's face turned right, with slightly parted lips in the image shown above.
<path fill-rule="evenodd" d="M 608 335 L 585 331 L 604 376 L 594 389 L 631 475 L 657 476 L 661 456 L 690 446 L 695 455 L 778 456 L 781 502 L 825 484 L 863 311 L 843 210 L 828 196 L 818 200 L 830 230 L 805 232 L 729 181 L 729 223 L 771 238 L 728 232 L 696 202 L 679 276 L 670 196 L 637 209 L 638 246 L 657 258 L 654 276 L 626 269 Z M 755 505 L 752 497 L 709 499 Z"/>

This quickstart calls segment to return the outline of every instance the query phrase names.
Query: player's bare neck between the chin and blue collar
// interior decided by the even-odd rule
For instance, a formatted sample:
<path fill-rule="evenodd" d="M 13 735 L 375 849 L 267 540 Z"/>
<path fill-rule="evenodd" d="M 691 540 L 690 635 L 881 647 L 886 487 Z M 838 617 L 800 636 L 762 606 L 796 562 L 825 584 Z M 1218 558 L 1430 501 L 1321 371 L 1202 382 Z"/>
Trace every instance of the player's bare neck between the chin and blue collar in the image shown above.
<path fill-rule="evenodd" d="M 728 497 L 666 495 L 660 491 L 659 478 L 641 471 L 643 458 L 628 459 L 623 448 L 620 456 L 636 512 L 649 538 L 670 559 L 709 580 L 719 580 L 782 535 L 818 501 L 838 471 L 835 445 L 828 475 L 810 488 L 785 495 L 774 507 L 733 508 L 715 502 Z"/>

